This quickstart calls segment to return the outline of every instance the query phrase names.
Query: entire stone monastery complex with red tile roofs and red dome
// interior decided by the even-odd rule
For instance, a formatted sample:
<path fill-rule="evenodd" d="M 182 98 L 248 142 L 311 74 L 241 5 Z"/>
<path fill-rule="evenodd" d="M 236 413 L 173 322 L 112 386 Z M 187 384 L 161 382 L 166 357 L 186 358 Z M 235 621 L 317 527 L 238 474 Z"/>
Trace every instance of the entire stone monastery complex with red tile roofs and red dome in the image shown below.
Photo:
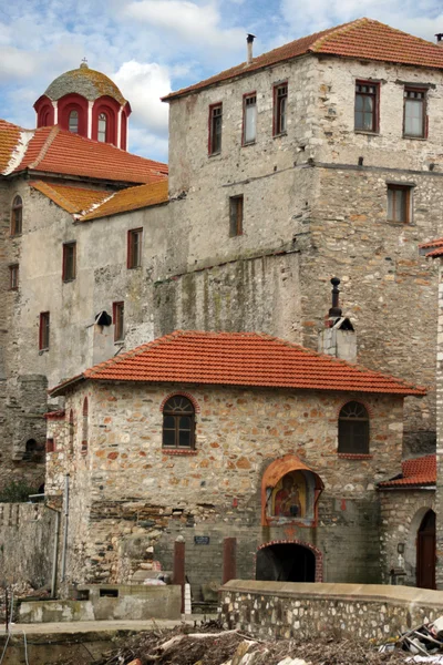
<path fill-rule="evenodd" d="M 56 507 L 70 473 L 69 583 L 183 536 L 198 595 L 235 535 L 246 577 L 443 584 L 443 48 L 370 19 L 251 45 L 165 98 L 168 167 L 85 63 L 0 121 L 0 484 L 45 458 Z"/>

